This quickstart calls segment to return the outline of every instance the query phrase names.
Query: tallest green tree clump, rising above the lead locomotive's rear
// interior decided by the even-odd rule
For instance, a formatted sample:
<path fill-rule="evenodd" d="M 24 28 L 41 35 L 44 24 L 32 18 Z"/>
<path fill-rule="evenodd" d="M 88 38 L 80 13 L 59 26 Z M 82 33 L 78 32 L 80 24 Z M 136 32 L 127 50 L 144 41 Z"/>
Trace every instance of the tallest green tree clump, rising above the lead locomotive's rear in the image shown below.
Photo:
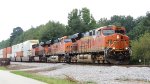
<path fill-rule="evenodd" d="M 82 8 L 82 10 L 73 9 L 68 14 L 67 34 L 74 34 L 78 32 L 86 32 L 96 27 L 96 21 L 90 14 L 90 10 Z"/>

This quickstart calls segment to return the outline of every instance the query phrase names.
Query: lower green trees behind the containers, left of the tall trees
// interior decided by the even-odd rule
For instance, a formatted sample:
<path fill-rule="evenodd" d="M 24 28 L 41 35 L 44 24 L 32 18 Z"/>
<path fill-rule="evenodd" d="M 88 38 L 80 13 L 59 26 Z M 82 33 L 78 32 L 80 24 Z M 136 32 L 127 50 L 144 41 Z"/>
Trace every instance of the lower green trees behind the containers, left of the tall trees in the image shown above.
<path fill-rule="evenodd" d="M 0 48 L 5 48 L 32 39 L 38 39 L 45 42 L 53 37 L 58 38 L 64 35 L 66 35 L 65 25 L 59 22 L 49 21 L 45 25 L 30 28 L 25 32 L 23 32 L 21 27 L 16 27 L 13 29 L 10 39 L 0 42 Z"/>

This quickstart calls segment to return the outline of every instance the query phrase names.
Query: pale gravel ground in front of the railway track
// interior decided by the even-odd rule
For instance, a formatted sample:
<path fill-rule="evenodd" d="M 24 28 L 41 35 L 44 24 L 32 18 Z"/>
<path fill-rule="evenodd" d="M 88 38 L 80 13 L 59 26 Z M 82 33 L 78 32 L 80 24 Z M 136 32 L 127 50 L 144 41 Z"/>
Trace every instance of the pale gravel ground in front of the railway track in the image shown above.
<path fill-rule="evenodd" d="M 78 81 L 79 84 L 150 84 L 148 66 L 11 62 L 7 68 Z"/>

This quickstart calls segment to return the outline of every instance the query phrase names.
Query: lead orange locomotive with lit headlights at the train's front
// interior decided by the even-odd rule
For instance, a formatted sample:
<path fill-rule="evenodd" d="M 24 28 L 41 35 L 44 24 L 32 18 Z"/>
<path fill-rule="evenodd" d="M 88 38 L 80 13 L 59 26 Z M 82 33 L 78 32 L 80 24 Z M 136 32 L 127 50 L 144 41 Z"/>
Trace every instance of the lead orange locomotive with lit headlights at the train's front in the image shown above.
<path fill-rule="evenodd" d="M 77 62 L 128 64 L 131 49 L 125 32 L 124 27 L 111 25 L 78 33 L 72 38 L 76 45 L 72 52 L 76 53 L 68 53 L 66 61 L 76 58 Z"/>

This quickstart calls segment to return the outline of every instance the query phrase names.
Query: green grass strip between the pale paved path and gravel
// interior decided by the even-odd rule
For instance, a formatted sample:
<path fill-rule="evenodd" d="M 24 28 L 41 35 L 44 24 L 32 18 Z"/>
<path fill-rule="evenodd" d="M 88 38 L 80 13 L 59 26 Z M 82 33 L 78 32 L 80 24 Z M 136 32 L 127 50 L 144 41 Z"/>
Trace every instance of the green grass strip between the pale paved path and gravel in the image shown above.
<path fill-rule="evenodd" d="M 24 77 L 32 78 L 38 81 L 45 82 L 47 84 L 76 84 L 77 82 L 65 80 L 65 79 L 56 79 L 56 78 L 50 78 L 46 76 L 41 76 L 33 73 L 27 73 L 24 71 L 11 71 L 14 74 L 21 75 Z"/>

